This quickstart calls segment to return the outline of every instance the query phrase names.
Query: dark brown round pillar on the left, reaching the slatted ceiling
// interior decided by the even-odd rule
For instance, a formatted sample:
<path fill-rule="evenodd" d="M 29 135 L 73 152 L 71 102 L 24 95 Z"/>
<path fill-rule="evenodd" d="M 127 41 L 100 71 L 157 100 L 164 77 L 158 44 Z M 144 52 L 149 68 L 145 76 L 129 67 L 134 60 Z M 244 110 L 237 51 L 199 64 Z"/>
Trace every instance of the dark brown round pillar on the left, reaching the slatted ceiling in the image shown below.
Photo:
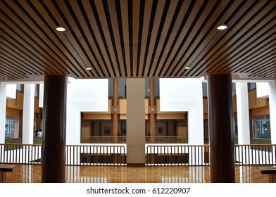
<path fill-rule="evenodd" d="M 66 97 L 68 77 L 44 78 L 42 182 L 65 182 Z"/>

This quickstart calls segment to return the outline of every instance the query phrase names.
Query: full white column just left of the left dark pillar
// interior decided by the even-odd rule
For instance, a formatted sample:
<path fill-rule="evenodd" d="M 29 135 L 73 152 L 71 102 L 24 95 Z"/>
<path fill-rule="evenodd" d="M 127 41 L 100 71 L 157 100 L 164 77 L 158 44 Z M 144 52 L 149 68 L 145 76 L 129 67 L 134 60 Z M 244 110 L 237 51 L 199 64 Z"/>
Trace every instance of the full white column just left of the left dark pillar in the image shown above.
<path fill-rule="evenodd" d="M 33 144 L 35 84 L 24 84 L 22 144 Z"/>

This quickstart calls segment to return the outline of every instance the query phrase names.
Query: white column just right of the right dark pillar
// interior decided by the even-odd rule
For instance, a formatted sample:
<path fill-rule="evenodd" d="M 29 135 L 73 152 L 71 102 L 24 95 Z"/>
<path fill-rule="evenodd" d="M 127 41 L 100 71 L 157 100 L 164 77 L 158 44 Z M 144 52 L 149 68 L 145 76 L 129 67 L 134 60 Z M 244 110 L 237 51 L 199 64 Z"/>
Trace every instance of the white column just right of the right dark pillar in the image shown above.
<path fill-rule="evenodd" d="M 239 144 L 250 144 L 249 94 L 247 82 L 236 82 Z"/>

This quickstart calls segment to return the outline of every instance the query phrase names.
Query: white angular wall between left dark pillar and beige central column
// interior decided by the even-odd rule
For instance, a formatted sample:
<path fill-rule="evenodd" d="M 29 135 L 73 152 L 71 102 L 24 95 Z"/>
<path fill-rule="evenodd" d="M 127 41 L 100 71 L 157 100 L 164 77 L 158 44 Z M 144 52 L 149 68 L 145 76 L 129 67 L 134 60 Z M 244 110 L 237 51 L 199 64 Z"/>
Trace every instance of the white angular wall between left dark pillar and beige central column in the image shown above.
<path fill-rule="evenodd" d="M 81 112 L 108 111 L 108 80 L 69 79 L 66 144 L 80 144 Z"/>

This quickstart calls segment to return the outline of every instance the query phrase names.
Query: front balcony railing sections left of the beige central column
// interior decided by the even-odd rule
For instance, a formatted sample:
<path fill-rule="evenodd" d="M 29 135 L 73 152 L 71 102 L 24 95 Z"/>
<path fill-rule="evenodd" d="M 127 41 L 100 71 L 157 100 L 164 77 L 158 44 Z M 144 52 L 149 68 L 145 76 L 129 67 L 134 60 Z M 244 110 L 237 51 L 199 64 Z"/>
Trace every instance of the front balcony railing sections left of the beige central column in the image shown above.
<path fill-rule="evenodd" d="M 125 146 L 65 146 L 66 165 L 125 165 Z M 41 164 L 39 144 L 0 144 L 0 163 Z"/>

